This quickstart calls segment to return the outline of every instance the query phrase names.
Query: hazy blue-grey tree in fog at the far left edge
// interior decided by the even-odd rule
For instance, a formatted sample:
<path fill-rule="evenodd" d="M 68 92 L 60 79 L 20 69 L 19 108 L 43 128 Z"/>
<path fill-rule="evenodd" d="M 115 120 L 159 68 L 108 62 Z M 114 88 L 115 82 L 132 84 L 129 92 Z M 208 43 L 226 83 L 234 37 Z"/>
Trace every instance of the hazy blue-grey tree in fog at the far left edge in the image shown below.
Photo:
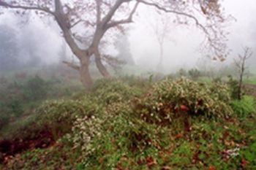
<path fill-rule="evenodd" d="M 13 70 L 19 66 L 17 35 L 7 25 L 0 25 L 0 30 L 0 71 Z"/>

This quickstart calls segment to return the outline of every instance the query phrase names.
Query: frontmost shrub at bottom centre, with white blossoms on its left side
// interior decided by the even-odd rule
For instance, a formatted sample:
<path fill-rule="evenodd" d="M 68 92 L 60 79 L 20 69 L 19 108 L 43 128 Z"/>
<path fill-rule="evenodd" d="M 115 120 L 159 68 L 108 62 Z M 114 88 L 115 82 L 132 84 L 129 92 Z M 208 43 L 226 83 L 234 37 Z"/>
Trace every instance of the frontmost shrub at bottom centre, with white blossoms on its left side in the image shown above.
<path fill-rule="evenodd" d="M 166 129 L 130 117 L 131 111 L 127 104 L 114 104 L 103 115 L 78 117 L 70 139 L 83 151 L 84 169 L 115 169 L 122 159 L 157 155 Z"/>

